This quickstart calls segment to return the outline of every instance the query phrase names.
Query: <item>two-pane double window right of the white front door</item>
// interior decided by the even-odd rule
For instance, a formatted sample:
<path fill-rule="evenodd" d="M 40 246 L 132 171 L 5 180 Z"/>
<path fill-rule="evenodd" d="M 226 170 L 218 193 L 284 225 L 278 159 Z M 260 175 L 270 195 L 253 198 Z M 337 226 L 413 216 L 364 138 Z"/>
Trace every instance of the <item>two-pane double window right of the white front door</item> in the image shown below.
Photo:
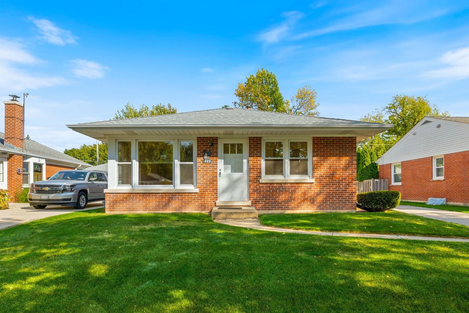
<path fill-rule="evenodd" d="M 309 140 L 265 140 L 265 178 L 305 178 L 311 176 Z"/>

